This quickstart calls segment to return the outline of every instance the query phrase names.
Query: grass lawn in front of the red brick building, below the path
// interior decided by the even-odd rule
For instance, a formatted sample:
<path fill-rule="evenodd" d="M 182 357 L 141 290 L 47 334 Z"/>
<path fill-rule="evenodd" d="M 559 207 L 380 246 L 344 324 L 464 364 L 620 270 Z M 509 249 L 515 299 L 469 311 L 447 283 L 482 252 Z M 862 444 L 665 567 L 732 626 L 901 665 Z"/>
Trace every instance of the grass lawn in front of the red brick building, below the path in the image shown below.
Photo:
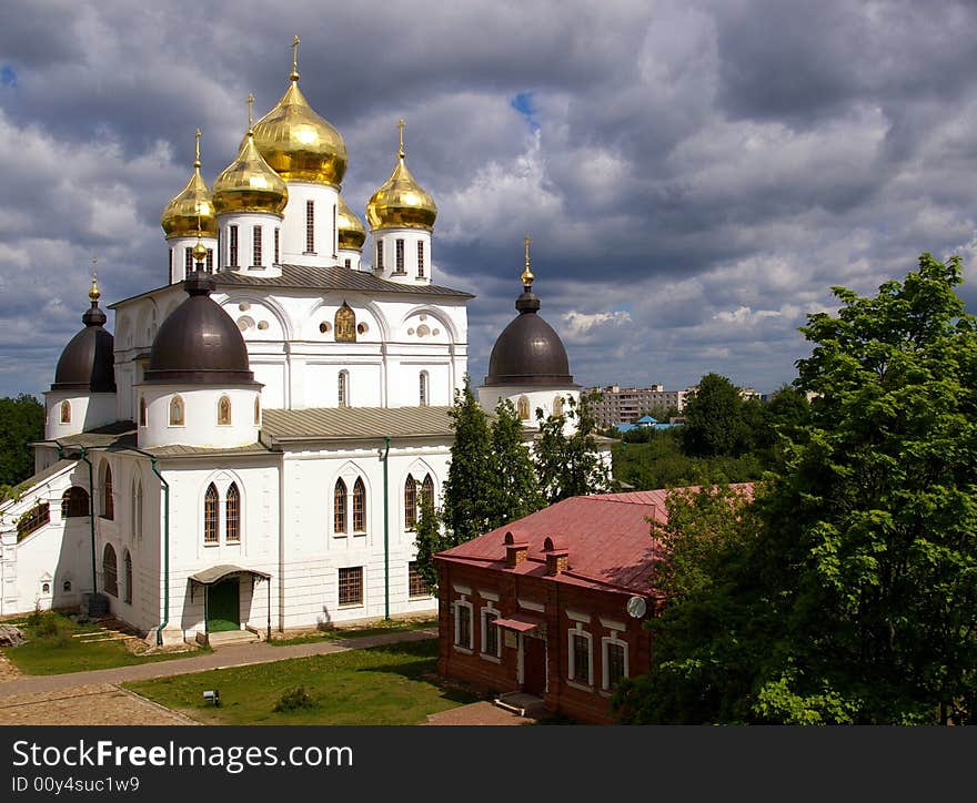
<path fill-rule="evenodd" d="M 437 640 L 430 639 L 124 685 L 205 724 L 409 725 L 480 699 L 442 684 L 436 657 Z M 275 711 L 298 687 L 305 704 Z M 220 691 L 220 708 L 203 701 L 208 689 Z"/>

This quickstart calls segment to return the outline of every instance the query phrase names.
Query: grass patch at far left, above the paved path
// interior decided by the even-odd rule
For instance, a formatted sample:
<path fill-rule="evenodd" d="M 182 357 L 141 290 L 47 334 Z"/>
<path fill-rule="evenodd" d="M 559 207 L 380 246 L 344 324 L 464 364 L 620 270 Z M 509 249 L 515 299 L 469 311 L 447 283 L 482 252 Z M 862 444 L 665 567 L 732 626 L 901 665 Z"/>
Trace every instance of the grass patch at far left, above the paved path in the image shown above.
<path fill-rule="evenodd" d="M 80 624 L 60 613 L 46 612 L 38 624 L 19 627 L 28 641 L 20 647 L 3 648 L 3 654 L 24 674 L 87 672 L 92 669 L 131 667 L 137 663 L 188 658 L 200 653 L 199 649 L 188 646 L 189 652 L 138 655 L 127 650 L 121 640 L 85 641 L 77 637 L 97 633 L 100 629 L 98 622 Z"/>

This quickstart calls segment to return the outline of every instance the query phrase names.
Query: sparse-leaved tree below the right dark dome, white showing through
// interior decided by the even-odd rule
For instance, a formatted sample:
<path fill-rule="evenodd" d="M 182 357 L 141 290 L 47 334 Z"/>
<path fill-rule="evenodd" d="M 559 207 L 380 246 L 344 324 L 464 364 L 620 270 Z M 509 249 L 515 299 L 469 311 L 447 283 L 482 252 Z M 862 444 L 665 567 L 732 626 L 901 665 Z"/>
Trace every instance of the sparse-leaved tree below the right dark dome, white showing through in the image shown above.
<path fill-rule="evenodd" d="M 587 397 L 580 404 L 567 399 L 564 416 L 543 416 L 536 410 L 540 438 L 534 447 L 540 489 L 548 505 L 572 496 L 603 494 L 615 486 L 611 470 L 598 450 L 594 436 L 595 424 Z M 576 420 L 576 428 L 567 435 L 564 418 Z"/>

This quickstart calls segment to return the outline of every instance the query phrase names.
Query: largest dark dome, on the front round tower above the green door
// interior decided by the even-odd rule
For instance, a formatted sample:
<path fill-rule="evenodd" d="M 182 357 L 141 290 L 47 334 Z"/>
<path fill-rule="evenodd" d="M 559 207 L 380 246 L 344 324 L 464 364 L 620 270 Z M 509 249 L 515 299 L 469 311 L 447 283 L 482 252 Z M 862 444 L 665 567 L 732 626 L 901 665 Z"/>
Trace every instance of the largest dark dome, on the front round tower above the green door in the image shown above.
<path fill-rule="evenodd" d="M 153 340 L 145 382 L 157 384 L 253 384 L 244 338 L 210 298 L 214 282 L 195 271 L 183 282 L 190 294 L 163 321 Z"/>

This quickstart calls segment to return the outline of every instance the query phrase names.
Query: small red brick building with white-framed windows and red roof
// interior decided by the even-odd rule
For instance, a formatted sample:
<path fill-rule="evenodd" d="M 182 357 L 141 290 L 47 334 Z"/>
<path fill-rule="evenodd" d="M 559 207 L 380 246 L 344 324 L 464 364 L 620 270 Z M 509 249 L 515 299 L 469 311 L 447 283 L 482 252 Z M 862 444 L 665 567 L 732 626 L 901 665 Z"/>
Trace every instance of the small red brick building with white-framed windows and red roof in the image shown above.
<path fill-rule="evenodd" d="M 435 556 L 439 671 L 612 722 L 614 687 L 649 668 L 648 519 L 666 520 L 666 494 L 573 497 Z"/>

